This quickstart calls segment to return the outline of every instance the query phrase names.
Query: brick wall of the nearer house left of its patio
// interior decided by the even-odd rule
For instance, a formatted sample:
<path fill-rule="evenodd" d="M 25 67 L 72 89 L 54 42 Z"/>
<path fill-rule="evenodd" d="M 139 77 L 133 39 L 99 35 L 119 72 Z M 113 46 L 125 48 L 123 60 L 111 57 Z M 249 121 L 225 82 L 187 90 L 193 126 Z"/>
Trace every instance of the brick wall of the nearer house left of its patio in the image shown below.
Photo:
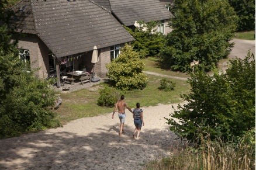
<path fill-rule="evenodd" d="M 49 72 L 49 57 L 48 47 L 33 34 L 27 34 L 26 37 L 19 39 L 18 48 L 29 50 L 30 55 L 30 67 L 32 69 L 40 68 L 36 71 L 35 76 L 38 78 L 47 77 Z"/>

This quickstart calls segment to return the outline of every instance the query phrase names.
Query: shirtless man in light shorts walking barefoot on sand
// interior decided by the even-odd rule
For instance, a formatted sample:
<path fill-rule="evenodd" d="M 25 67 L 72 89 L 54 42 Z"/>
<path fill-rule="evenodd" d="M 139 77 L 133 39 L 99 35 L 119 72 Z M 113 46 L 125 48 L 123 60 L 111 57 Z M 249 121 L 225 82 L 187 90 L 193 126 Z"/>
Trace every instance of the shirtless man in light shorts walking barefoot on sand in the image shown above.
<path fill-rule="evenodd" d="M 119 119 L 120 119 L 120 133 L 119 133 L 119 136 L 122 136 L 122 132 L 124 131 L 123 130 L 123 124 L 124 124 L 124 120 L 125 120 L 125 107 L 127 107 L 127 109 L 133 113 L 132 109 L 130 109 L 130 107 L 127 105 L 126 102 L 123 101 L 124 99 L 124 95 L 121 96 L 121 100 L 116 102 L 116 107 L 115 107 L 115 110 L 113 112 L 113 115 L 112 115 L 112 119 L 114 119 L 114 115 L 115 115 L 115 112 L 116 112 L 116 109 L 118 107 L 118 116 L 119 116 Z"/>

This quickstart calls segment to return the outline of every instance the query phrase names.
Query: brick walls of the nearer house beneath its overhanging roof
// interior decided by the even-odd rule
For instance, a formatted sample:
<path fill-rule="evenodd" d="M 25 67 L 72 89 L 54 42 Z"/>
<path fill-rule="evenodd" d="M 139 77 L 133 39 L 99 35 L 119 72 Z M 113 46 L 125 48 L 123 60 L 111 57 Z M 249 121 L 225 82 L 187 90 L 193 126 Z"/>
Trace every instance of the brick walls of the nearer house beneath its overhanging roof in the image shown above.
<path fill-rule="evenodd" d="M 125 43 L 120 44 L 123 47 Z M 40 68 L 35 73 L 38 78 L 46 78 L 50 72 L 49 68 L 49 48 L 35 35 L 27 35 L 20 38 L 18 48 L 29 50 L 30 65 L 32 69 Z M 98 77 L 106 77 L 108 70 L 106 64 L 110 63 L 110 47 L 98 49 L 99 61 L 95 64 L 95 75 Z M 77 58 L 78 56 L 78 58 Z M 81 56 L 81 57 L 80 57 Z M 56 59 L 58 62 L 59 59 Z M 87 71 L 93 72 L 94 64 L 91 63 L 92 51 L 73 55 L 74 69 L 81 70 L 81 63 L 85 64 Z"/>

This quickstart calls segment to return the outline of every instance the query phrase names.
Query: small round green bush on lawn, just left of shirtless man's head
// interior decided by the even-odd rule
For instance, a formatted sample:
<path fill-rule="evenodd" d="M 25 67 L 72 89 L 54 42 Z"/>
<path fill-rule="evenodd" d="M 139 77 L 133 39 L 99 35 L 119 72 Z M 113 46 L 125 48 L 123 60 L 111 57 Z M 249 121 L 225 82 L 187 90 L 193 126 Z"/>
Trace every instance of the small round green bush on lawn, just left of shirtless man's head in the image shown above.
<path fill-rule="evenodd" d="M 99 91 L 99 99 L 97 101 L 97 104 L 99 106 L 113 107 L 115 106 L 115 103 L 118 101 L 119 97 L 119 91 L 117 91 L 115 88 L 105 86 L 104 89 L 101 89 L 101 91 Z"/>

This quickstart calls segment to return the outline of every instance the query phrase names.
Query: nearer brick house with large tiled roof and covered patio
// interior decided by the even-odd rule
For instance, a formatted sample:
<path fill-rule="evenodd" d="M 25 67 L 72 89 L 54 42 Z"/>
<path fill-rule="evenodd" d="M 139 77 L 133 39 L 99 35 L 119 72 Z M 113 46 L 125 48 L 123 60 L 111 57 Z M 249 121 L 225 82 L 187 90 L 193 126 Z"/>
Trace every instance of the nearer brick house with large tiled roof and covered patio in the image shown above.
<path fill-rule="evenodd" d="M 92 50 L 98 48 L 95 74 L 105 77 L 106 63 L 134 38 L 105 9 L 90 0 L 22 0 L 11 8 L 11 27 L 19 38 L 20 57 L 29 58 L 36 76 L 58 69 L 92 71 Z M 65 64 L 60 67 L 61 62 Z"/>

